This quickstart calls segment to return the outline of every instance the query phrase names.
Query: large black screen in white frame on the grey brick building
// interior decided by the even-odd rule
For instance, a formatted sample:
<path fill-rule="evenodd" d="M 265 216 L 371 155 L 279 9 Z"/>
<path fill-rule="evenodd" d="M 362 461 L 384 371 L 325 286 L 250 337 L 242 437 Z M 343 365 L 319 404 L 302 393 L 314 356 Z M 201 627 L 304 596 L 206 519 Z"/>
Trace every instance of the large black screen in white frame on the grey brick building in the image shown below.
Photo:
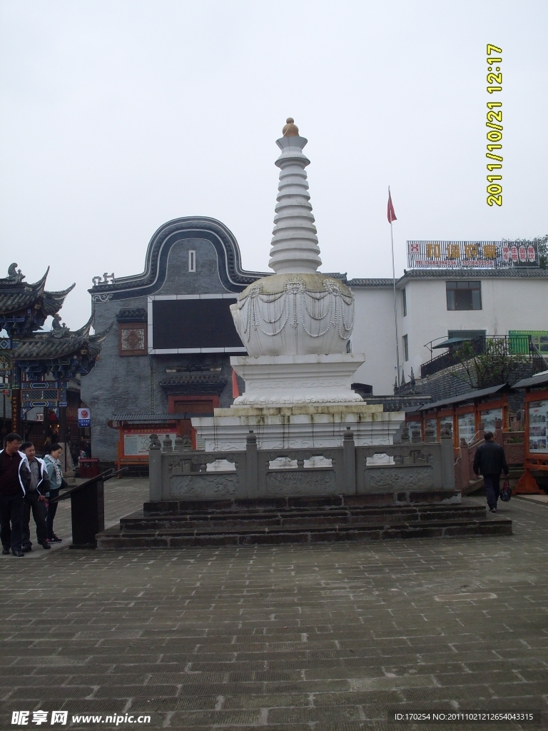
<path fill-rule="evenodd" d="M 246 352 L 230 312 L 235 301 L 153 300 L 151 352 Z"/>

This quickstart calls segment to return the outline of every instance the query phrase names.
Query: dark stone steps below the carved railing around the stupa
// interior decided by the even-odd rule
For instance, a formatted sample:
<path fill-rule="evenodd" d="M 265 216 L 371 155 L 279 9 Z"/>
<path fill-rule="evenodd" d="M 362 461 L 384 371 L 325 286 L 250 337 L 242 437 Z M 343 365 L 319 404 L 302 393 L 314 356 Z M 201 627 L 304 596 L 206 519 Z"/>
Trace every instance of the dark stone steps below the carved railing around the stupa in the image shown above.
<path fill-rule="evenodd" d="M 99 549 L 313 544 L 381 539 L 511 535 L 511 520 L 454 491 L 387 496 L 145 503 L 97 536 Z"/>

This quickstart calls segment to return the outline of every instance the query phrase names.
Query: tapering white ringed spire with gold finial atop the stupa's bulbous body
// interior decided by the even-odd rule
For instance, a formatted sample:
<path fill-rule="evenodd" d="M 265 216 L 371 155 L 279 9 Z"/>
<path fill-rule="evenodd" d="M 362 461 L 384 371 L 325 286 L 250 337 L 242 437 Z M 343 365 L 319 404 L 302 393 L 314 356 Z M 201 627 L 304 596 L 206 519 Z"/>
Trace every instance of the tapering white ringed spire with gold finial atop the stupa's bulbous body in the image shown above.
<path fill-rule="evenodd" d="M 275 162 L 280 182 L 268 265 L 276 274 L 314 273 L 321 259 L 305 173 L 310 160 L 302 152 L 308 140 L 300 137 L 292 117 L 282 132 L 283 137 L 276 140 L 281 149 Z"/>

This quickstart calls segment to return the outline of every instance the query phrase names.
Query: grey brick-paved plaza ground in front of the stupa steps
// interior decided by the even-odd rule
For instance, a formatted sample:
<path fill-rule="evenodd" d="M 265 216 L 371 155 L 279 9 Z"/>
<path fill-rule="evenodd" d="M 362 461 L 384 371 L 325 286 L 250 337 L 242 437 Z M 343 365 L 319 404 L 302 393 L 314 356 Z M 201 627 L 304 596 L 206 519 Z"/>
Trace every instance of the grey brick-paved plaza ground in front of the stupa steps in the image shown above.
<path fill-rule="evenodd" d="M 112 524 L 147 484 L 105 491 Z M 512 499 L 500 512 L 511 537 L 125 553 L 64 543 L 2 557 L 1 727 L 18 727 L 13 711 L 63 709 L 227 731 L 412 728 L 388 724 L 390 708 L 548 711 L 548 507 Z M 69 534 L 68 501 L 56 531 Z M 483 724 L 420 726 L 441 727 Z"/>

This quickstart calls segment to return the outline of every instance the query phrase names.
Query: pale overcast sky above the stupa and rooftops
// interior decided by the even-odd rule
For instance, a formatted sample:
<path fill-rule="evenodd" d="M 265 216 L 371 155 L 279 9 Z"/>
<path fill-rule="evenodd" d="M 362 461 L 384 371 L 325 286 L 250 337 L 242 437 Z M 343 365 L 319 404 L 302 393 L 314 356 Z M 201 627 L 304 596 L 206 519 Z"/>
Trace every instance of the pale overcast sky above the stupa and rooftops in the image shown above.
<path fill-rule="evenodd" d="M 77 287 L 140 273 L 178 216 L 267 270 L 292 115 L 322 270 L 392 276 L 407 239 L 548 232 L 547 0 L 1 0 L 0 276 Z M 486 91 L 486 45 L 503 92 Z M 503 206 L 486 204 L 486 102 L 503 102 Z"/>

